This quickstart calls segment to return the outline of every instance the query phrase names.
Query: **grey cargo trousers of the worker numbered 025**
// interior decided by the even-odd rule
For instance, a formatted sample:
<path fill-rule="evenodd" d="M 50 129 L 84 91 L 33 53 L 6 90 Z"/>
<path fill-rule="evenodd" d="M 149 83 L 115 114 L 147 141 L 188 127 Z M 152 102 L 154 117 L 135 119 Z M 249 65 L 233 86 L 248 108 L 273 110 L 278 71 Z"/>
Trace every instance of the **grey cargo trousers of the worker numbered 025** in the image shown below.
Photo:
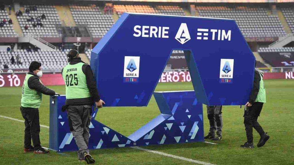
<path fill-rule="evenodd" d="M 67 117 L 69 128 L 74 135 L 78 146 L 78 158 L 83 158 L 83 153 L 89 152 L 89 125 L 91 121 L 91 105 L 69 105 L 67 107 Z"/>

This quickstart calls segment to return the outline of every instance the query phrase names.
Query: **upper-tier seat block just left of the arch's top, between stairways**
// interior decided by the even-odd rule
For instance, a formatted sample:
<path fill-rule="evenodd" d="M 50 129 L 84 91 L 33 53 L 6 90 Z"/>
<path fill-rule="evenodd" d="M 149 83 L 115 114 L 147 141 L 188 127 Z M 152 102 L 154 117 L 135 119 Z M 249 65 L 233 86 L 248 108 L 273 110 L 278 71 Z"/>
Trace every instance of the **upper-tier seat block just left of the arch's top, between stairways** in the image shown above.
<path fill-rule="evenodd" d="M 76 24 L 87 25 L 93 37 L 103 37 L 114 23 L 112 16 L 103 15 L 97 6 L 71 5 L 70 10 Z"/>

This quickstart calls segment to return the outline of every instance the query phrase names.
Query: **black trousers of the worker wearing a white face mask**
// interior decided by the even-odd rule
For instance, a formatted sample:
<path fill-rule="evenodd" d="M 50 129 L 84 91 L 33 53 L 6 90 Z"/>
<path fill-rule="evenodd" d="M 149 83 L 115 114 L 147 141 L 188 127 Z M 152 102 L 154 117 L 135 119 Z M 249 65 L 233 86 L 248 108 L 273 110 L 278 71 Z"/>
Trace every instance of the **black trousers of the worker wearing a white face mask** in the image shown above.
<path fill-rule="evenodd" d="M 31 147 L 31 140 L 33 141 L 35 150 L 41 148 L 40 142 L 40 121 L 39 109 L 20 107 L 21 115 L 24 118 L 24 147 Z"/>

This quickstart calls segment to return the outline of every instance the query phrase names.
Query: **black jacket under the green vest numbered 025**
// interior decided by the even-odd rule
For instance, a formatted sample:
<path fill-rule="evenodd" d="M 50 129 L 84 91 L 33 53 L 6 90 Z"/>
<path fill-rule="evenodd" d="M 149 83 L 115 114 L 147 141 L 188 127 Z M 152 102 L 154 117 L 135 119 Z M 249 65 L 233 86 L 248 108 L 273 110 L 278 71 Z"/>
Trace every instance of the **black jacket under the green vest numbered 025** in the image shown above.
<path fill-rule="evenodd" d="M 69 64 L 74 65 L 77 63 L 84 63 L 81 58 L 74 58 L 70 61 Z M 66 99 L 66 105 L 93 105 L 94 102 L 100 100 L 100 96 L 96 87 L 96 80 L 94 79 L 94 75 L 90 65 L 84 63 L 82 66 L 82 71 L 86 75 L 86 83 L 87 87 L 90 91 L 91 97 L 88 98 L 79 98 L 79 99 Z M 61 73 L 63 69 L 61 70 Z"/>

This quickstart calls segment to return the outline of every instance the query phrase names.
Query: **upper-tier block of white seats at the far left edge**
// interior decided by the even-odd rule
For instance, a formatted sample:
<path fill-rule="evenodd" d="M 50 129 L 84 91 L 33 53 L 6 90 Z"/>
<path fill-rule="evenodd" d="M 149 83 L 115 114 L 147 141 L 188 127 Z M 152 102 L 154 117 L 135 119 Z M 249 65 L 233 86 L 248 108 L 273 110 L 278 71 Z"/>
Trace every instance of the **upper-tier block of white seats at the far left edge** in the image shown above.
<path fill-rule="evenodd" d="M 6 20 L 6 23 L 3 27 L 0 26 L 0 36 L 5 37 L 17 37 L 18 35 L 15 33 L 12 24 L 9 24 L 9 16 L 6 10 L 0 10 L 0 22 Z"/>

